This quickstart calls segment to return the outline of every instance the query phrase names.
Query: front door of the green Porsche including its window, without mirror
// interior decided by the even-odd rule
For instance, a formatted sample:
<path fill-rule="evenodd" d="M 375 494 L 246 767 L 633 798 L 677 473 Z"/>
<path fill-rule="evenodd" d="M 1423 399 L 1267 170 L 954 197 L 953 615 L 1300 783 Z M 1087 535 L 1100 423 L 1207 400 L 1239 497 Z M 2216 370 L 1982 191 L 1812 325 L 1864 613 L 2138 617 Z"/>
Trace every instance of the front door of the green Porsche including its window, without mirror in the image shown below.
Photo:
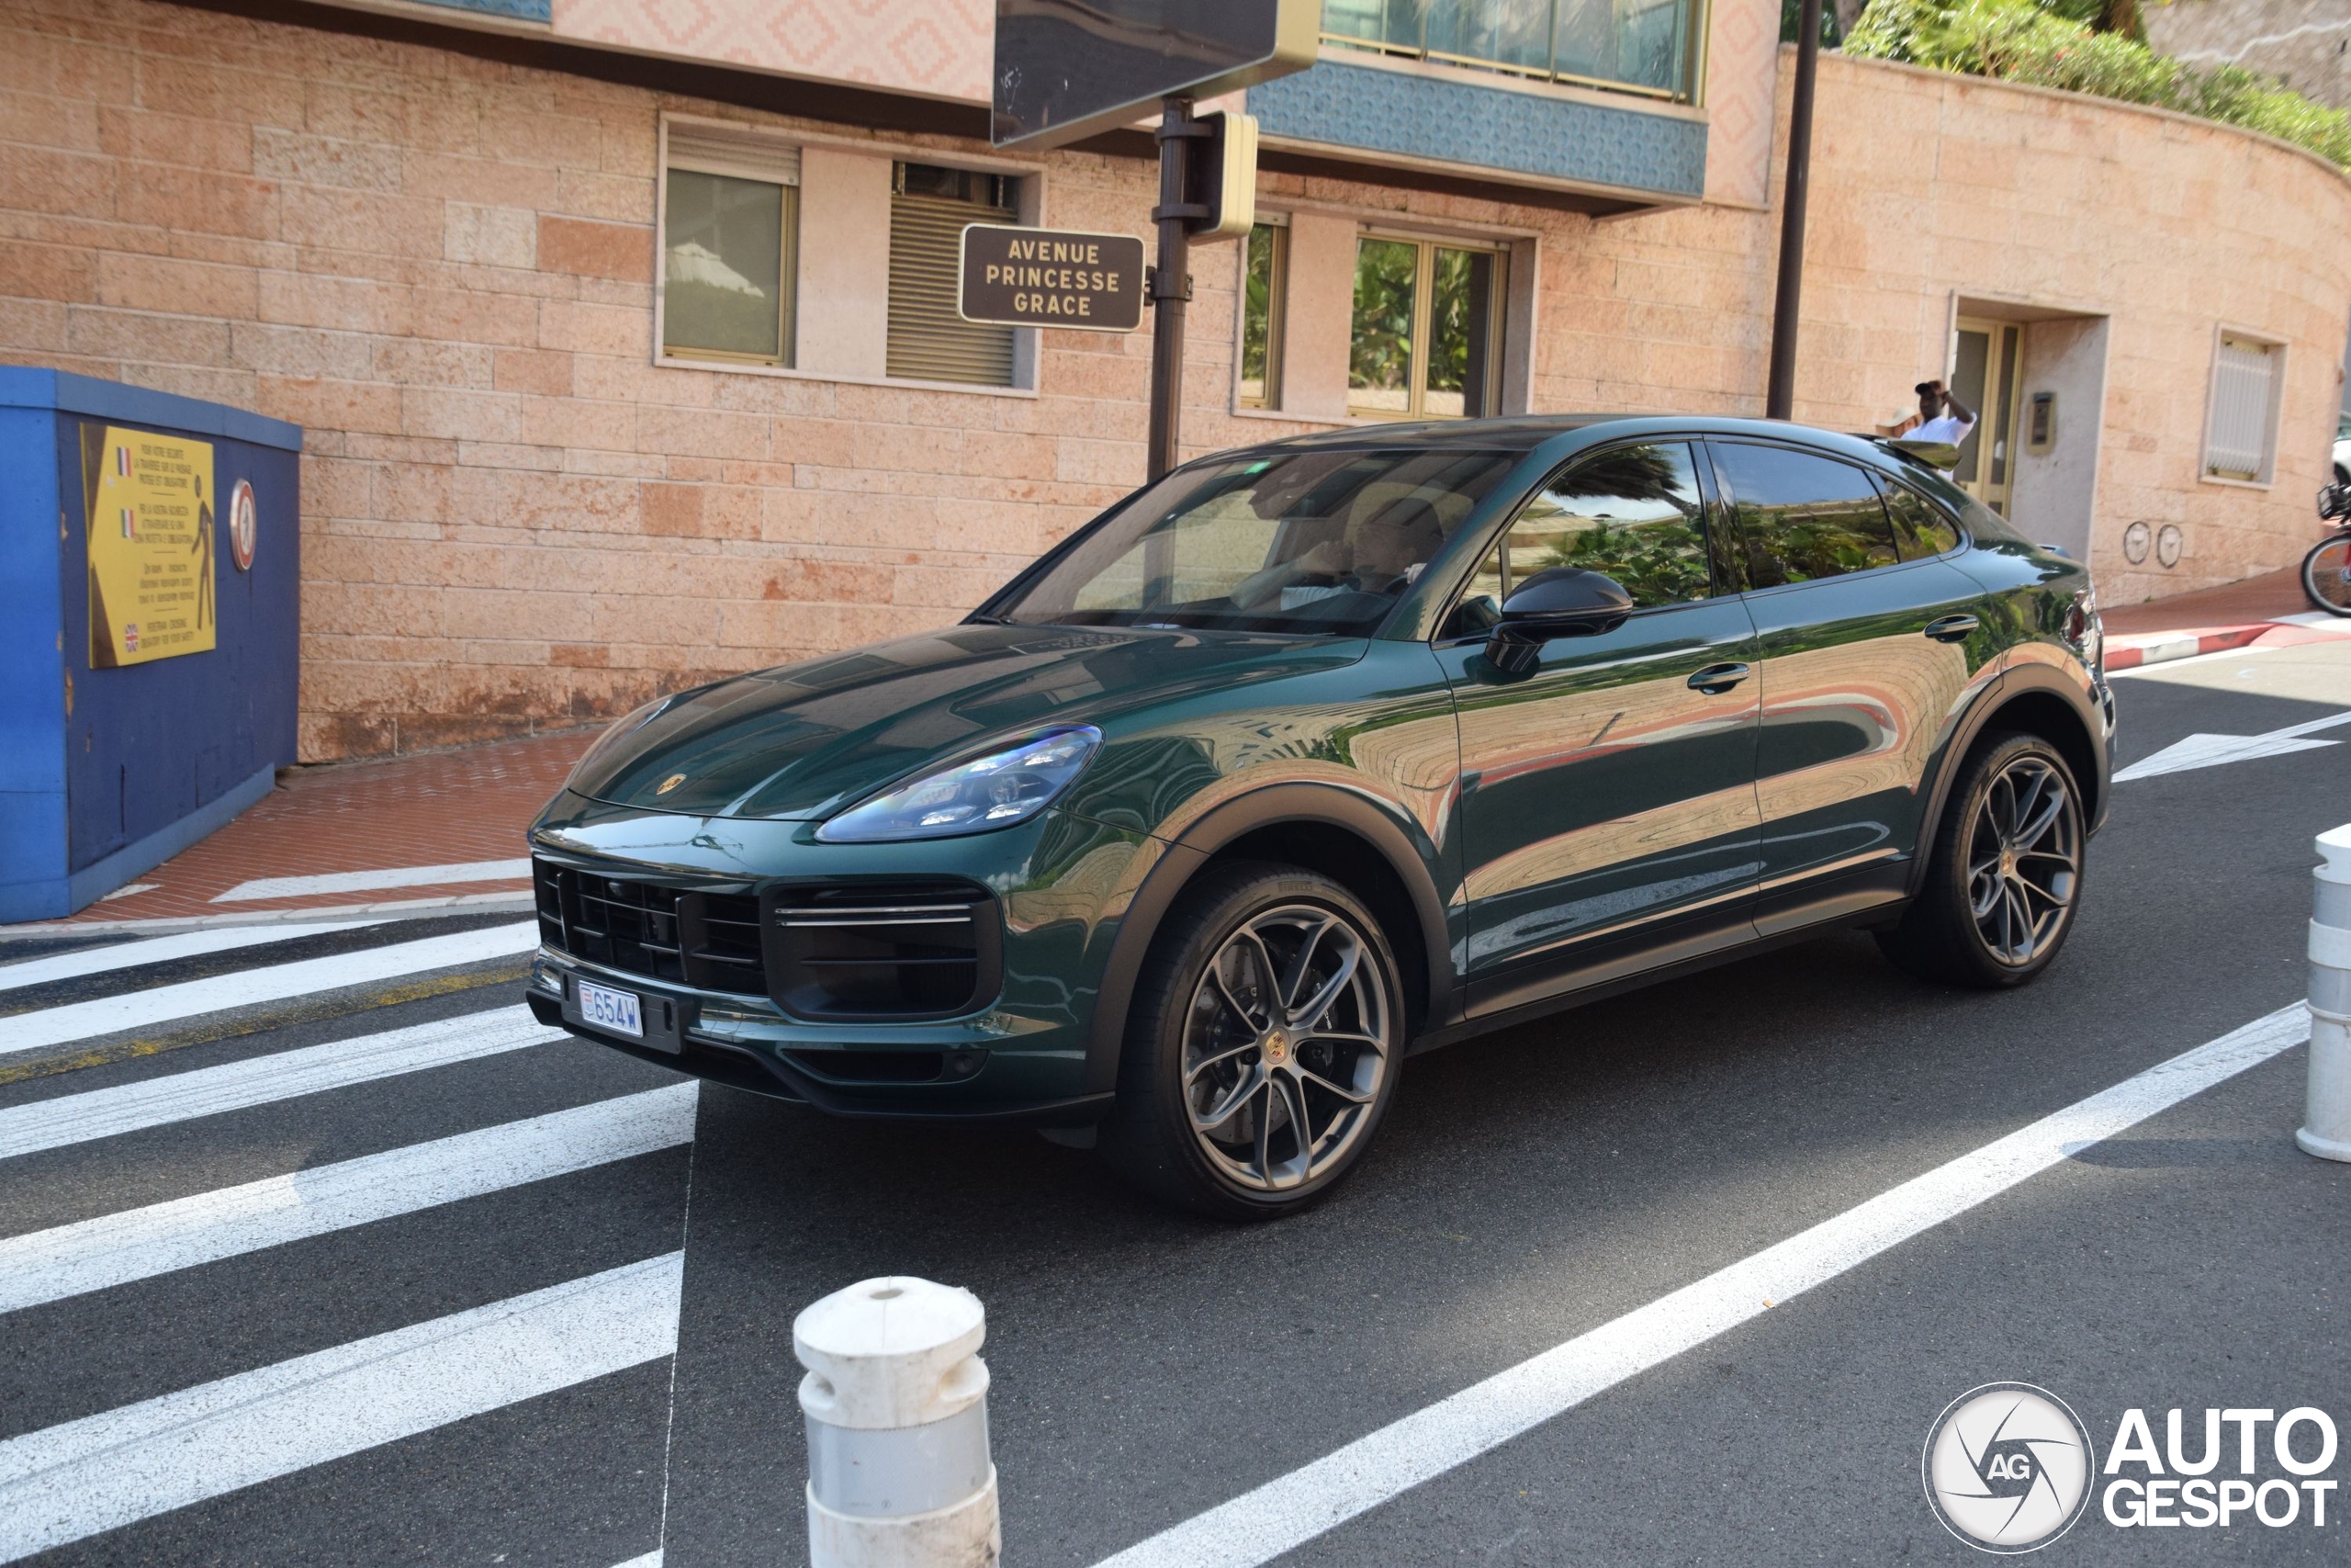
<path fill-rule="evenodd" d="M 1756 642 L 1693 442 L 1582 456 L 1528 501 L 1436 642 L 1462 745 L 1469 1011 L 1747 940 L 1756 882 Z M 1512 585 L 1601 571 L 1613 632 L 1502 670 L 1486 630 Z"/>

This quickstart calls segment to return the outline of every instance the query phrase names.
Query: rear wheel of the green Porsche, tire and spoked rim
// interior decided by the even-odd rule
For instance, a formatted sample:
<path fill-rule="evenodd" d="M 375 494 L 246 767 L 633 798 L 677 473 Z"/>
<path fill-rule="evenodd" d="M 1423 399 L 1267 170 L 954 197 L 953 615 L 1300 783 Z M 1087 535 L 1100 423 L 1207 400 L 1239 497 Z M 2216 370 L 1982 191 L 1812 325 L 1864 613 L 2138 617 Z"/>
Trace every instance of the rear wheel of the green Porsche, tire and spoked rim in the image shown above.
<path fill-rule="evenodd" d="M 1878 947 L 1923 980 L 2029 983 L 2074 931 L 2083 839 L 2081 790 L 2057 748 L 1987 736 L 1961 764 L 1925 884 L 1900 924 L 1876 933 Z"/>

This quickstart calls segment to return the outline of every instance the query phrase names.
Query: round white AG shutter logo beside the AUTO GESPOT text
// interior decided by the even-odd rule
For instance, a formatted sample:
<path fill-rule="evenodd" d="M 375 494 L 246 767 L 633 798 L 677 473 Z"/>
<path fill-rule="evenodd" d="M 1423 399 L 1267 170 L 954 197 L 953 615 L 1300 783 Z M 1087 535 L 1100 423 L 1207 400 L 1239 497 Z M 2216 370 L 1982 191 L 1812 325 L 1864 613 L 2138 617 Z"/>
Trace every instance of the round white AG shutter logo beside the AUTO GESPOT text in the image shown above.
<path fill-rule="evenodd" d="M 1954 1399 L 1925 1436 L 1925 1500 L 1980 1552 L 2038 1552 L 2090 1505 L 2090 1429 L 2029 1382 L 1987 1382 Z"/>

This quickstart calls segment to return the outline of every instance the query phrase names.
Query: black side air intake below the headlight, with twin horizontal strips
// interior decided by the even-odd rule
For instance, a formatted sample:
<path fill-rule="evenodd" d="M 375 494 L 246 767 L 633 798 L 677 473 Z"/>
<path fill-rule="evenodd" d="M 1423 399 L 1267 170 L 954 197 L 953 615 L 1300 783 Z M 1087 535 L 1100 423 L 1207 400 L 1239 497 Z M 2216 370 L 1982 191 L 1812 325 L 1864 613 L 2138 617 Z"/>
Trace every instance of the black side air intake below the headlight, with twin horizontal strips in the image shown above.
<path fill-rule="evenodd" d="M 799 1018 L 950 1018 L 994 994 L 994 900 L 964 882 L 785 889 L 776 1001 Z"/>

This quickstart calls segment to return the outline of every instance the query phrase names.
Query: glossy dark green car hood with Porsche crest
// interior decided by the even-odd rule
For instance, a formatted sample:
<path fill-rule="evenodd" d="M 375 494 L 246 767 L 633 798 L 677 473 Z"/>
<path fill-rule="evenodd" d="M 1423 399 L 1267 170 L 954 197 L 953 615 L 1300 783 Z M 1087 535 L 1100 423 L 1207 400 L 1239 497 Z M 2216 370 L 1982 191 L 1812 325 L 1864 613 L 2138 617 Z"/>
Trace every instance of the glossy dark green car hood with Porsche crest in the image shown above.
<path fill-rule="evenodd" d="M 670 698 L 571 790 L 689 816 L 825 818 L 1053 724 L 1349 663 L 1364 642 L 1145 628 L 955 625 Z"/>

